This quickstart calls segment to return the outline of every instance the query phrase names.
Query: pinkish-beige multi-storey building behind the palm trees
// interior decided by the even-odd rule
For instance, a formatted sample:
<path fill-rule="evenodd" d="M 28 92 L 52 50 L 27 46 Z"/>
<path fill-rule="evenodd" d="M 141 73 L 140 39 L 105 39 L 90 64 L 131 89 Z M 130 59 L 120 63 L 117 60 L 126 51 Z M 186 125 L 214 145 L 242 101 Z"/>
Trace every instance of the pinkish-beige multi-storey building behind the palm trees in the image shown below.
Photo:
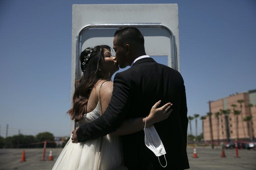
<path fill-rule="evenodd" d="M 242 107 L 240 106 L 240 103 L 238 103 L 238 100 L 244 100 L 244 103 L 242 103 Z M 238 115 L 238 133 L 236 130 L 236 116 L 233 112 L 232 104 L 237 105 L 235 107 L 235 110 L 241 111 L 240 115 Z M 247 107 L 248 104 L 252 104 L 252 107 Z M 210 103 L 210 109 L 211 109 L 211 120 L 212 120 L 212 132 L 213 132 L 213 140 L 215 142 L 218 141 L 218 131 L 219 131 L 219 139 L 220 141 L 233 141 L 237 138 L 238 140 L 242 141 L 248 141 L 252 139 L 252 136 L 254 136 L 254 139 L 256 137 L 256 89 L 250 90 L 248 92 L 242 92 L 230 95 L 229 97 L 225 97 L 216 101 L 212 101 Z M 230 113 L 225 118 L 225 115 L 221 114 L 219 115 L 219 129 L 218 129 L 218 119 L 215 116 L 216 112 L 220 112 L 220 110 L 230 110 Z M 246 116 L 252 116 L 252 121 L 245 122 L 243 118 Z M 248 127 L 249 126 L 249 127 Z M 253 128 L 251 128 L 253 127 Z M 209 123 L 209 117 L 207 116 L 204 120 L 204 140 L 210 141 L 211 135 L 210 135 L 210 123 Z M 237 135 L 238 134 L 238 135 Z M 229 140 L 228 140 L 229 139 Z"/>

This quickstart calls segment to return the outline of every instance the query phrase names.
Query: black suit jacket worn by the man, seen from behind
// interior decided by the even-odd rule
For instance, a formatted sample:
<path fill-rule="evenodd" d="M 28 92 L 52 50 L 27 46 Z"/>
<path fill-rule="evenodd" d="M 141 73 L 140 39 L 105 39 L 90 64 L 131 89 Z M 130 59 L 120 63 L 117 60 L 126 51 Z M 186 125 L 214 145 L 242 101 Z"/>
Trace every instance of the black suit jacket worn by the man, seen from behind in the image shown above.
<path fill-rule="evenodd" d="M 97 120 L 80 126 L 76 132 L 78 142 L 111 133 L 124 119 L 145 117 L 159 100 L 161 106 L 168 102 L 173 104 L 169 118 L 154 124 L 166 150 L 167 167 L 164 169 L 189 168 L 184 81 L 178 71 L 152 58 L 139 59 L 131 68 L 115 75 L 108 108 Z M 146 147 L 143 130 L 122 136 L 122 141 L 124 163 L 129 169 L 162 168 L 155 154 Z M 164 166 L 164 156 L 159 158 Z"/>

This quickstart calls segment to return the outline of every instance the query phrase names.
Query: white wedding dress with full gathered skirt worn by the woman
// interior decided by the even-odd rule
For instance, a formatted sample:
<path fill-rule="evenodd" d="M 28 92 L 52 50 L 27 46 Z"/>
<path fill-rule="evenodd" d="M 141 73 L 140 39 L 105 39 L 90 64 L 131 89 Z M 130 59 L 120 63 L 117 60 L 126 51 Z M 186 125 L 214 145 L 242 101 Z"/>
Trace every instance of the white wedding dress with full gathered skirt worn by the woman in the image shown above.
<path fill-rule="evenodd" d="M 90 113 L 84 114 L 78 126 L 100 117 L 100 104 Z M 72 135 L 71 135 L 72 137 Z M 101 138 L 72 143 L 71 137 L 63 148 L 53 170 L 97 170 Z M 121 144 L 118 136 L 103 136 L 99 169 L 112 170 L 121 166 Z"/>

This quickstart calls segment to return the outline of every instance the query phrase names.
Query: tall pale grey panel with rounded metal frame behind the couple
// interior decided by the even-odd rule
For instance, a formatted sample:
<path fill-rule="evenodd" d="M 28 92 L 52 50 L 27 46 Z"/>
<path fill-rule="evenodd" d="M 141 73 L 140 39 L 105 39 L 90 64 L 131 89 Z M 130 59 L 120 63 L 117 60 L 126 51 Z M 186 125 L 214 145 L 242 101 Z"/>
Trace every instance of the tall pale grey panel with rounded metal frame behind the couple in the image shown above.
<path fill-rule="evenodd" d="M 100 44 L 112 47 L 115 30 L 127 25 L 142 32 L 147 55 L 167 56 L 168 66 L 180 71 L 177 4 L 73 5 L 71 100 L 81 77 L 81 51 Z M 74 121 L 70 127 L 72 131 Z"/>

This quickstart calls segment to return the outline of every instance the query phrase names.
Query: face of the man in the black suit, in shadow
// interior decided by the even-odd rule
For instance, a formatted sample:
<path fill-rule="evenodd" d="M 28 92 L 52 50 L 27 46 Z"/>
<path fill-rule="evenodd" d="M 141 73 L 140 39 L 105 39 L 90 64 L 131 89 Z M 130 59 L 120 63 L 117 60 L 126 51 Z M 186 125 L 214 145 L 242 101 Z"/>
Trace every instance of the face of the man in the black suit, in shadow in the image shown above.
<path fill-rule="evenodd" d="M 125 68 L 127 64 L 127 52 L 123 45 L 117 43 L 117 37 L 114 37 L 113 49 L 116 52 L 116 62 L 119 64 L 120 68 Z"/>

